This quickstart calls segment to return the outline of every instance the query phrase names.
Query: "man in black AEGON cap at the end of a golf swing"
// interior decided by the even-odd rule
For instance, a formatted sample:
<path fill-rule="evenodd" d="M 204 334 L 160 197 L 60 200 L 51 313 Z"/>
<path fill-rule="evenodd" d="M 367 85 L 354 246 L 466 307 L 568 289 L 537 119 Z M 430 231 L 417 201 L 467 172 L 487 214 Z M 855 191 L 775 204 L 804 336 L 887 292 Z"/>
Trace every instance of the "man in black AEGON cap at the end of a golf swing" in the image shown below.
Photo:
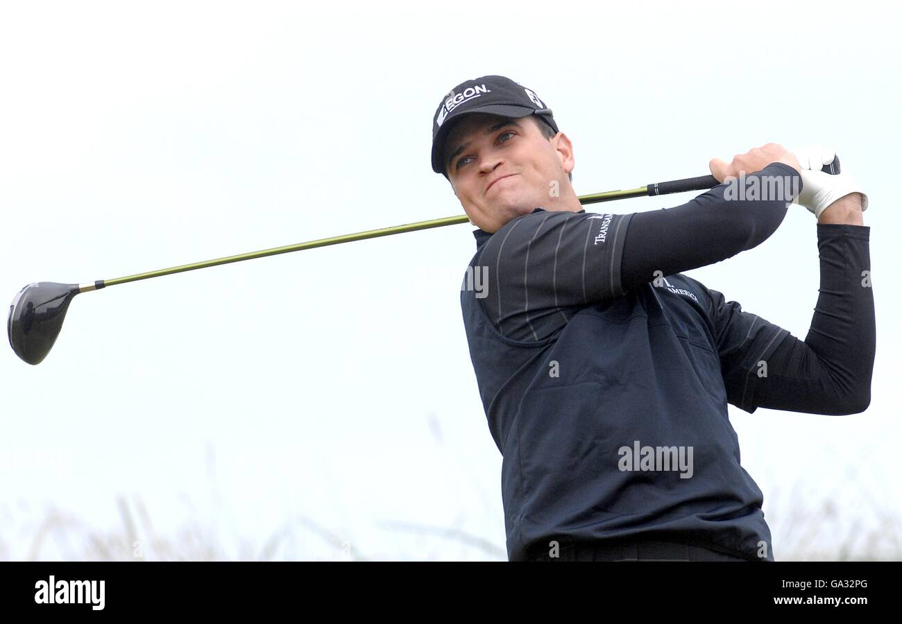
<path fill-rule="evenodd" d="M 454 87 L 432 136 L 433 170 L 479 228 L 461 305 L 511 561 L 774 561 L 727 403 L 870 404 L 868 197 L 821 171 L 833 152 L 768 143 L 710 161 L 721 184 L 686 204 L 594 214 L 571 186 L 572 142 L 509 78 Z M 817 217 L 805 342 L 683 274 L 763 243 L 791 203 Z"/>

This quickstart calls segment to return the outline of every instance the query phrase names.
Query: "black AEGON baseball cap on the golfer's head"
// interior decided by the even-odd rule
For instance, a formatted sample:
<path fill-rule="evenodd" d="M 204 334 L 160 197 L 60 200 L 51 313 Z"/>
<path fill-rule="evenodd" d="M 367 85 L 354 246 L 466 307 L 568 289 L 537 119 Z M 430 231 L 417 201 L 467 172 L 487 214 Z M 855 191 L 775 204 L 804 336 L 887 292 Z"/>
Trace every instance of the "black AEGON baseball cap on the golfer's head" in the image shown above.
<path fill-rule="evenodd" d="M 492 113 L 519 118 L 538 115 L 557 133 L 551 110 L 536 92 L 503 76 L 483 76 L 460 83 L 442 97 L 432 118 L 432 170 L 447 178 L 443 154 L 451 128 L 468 113 Z"/>

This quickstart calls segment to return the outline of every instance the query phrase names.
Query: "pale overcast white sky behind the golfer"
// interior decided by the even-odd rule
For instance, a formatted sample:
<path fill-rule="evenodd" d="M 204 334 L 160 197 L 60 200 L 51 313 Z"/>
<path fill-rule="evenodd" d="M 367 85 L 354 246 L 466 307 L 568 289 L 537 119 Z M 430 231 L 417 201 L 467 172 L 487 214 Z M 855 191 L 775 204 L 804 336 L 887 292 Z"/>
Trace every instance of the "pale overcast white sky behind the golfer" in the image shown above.
<path fill-rule="evenodd" d="M 830 143 L 870 197 L 870 408 L 730 413 L 778 559 L 809 531 L 828 556 L 849 535 L 853 557 L 898 553 L 867 540 L 902 518 L 899 17 L 823 1 L 0 2 L 0 295 L 462 214 L 429 166 L 431 118 L 486 74 L 554 110 L 581 195 Z M 815 224 L 791 206 L 755 250 L 688 274 L 804 339 Z M 39 366 L 0 350 L 0 557 L 28 556 L 51 509 L 121 530 L 121 496 L 157 533 L 193 522 L 232 558 L 286 527 L 276 558 L 506 558 L 459 305 L 473 229 L 87 293 Z"/>

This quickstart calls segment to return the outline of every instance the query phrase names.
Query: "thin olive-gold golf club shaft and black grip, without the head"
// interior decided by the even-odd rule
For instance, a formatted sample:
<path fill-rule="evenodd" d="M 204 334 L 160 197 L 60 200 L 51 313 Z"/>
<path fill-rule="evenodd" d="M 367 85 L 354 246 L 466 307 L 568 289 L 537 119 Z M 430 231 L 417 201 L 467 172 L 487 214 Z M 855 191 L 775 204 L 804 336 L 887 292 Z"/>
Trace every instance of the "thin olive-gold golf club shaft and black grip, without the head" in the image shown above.
<path fill-rule="evenodd" d="M 676 179 L 667 182 L 658 182 L 649 184 L 645 187 L 630 188 L 628 190 L 610 190 L 604 193 L 595 193 L 593 195 L 583 195 L 577 197 L 581 204 L 597 204 L 603 201 L 612 201 L 614 199 L 626 199 L 628 197 L 656 197 L 658 195 L 668 195 L 670 193 L 681 193 L 689 190 L 705 190 L 716 187 L 720 182 L 713 176 L 701 176 L 699 178 Z M 228 264 L 230 262 L 242 262 L 244 260 L 253 260 L 254 258 L 265 258 L 267 256 L 277 255 L 279 253 L 299 252 L 304 249 L 313 249 L 314 247 L 326 247 L 338 243 L 350 243 L 352 241 L 363 241 L 367 238 L 377 238 L 379 236 L 389 236 L 391 234 L 401 234 L 403 232 L 415 232 L 417 230 L 428 230 L 432 227 L 442 227 L 444 225 L 456 225 L 469 222 L 466 215 L 446 216 L 440 219 L 431 219 L 429 221 L 419 221 L 406 225 L 394 225 L 392 227 L 383 227 L 378 230 L 368 230 L 366 232 L 357 232 L 354 234 L 343 234 L 341 236 L 332 236 L 330 238 L 320 238 L 316 241 L 308 241 L 307 243 L 295 243 L 285 245 L 284 247 L 273 247 L 272 249 L 264 249 L 259 252 L 239 253 L 234 256 L 226 256 L 225 258 L 216 258 L 204 262 L 194 262 L 193 264 L 182 264 L 169 269 L 161 269 L 159 271 L 149 271 L 146 273 L 136 273 L 135 275 L 127 275 L 123 278 L 115 278 L 115 280 L 97 280 L 93 283 L 79 284 L 78 291 L 86 292 L 87 290 L 97 290 L 106 288 L 107 286 L 115 286 L 116 284 L 124 284 L 130 281 L 149 280 L 158 278 L 163 275 L 171 275 L 172 273 L 181 273 L 184 271 L 194 271 L 196 269 L 206 269 L 219 264 Z"/>

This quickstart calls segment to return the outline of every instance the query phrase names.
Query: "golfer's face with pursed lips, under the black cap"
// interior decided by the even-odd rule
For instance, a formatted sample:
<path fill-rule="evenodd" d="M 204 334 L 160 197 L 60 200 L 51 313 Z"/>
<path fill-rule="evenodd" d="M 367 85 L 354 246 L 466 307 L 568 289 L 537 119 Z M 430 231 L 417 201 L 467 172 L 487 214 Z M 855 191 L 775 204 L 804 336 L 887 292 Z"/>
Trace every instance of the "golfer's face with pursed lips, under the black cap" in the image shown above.
<path fill-rule="evenodd" d="M 535 116 L 466 115 L 448 133 L 445 163 L 455 195 L 474 225 L 497 232 L 538 207 L 554 209 L 568 184 L 573 151 L 566 135 L 550 141 Z"/>

